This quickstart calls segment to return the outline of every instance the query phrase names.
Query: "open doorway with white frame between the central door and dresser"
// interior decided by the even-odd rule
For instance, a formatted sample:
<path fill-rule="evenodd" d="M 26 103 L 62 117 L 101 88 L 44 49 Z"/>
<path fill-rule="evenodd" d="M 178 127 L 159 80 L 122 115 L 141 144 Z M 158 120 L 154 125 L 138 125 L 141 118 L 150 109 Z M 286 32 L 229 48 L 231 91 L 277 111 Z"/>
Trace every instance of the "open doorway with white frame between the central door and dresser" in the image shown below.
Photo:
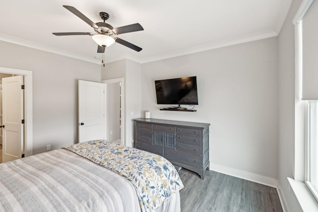
<path fill-rule="evenodd" d="M 102 80 L 105 93 L 105 136 L 108 141 L 126 144 L 124 141 L 123 78 Z"/>

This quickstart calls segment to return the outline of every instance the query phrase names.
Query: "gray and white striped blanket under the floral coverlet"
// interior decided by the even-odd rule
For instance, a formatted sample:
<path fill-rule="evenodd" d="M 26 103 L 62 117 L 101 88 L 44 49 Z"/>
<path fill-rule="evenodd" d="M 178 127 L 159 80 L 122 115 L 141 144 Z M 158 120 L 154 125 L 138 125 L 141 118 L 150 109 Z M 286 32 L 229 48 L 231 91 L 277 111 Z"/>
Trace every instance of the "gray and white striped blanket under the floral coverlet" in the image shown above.
<path fill-rule="evenodd" d="M 180 211 L 179 192 L 156 212 Z M 67 149 L 0 164 L 0 211 L 141 212 L 134 185 Z"/>

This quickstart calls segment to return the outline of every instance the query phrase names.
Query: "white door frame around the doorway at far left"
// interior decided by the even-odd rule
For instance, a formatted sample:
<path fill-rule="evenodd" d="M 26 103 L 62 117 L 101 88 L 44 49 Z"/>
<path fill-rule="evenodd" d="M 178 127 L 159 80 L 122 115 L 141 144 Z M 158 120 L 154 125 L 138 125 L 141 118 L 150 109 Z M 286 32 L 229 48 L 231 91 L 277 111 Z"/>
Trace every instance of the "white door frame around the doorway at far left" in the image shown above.
<path fill-rule="evenodd" d="M 32 71 L 0 67 L 1 73 L 24 76 L 24 155 L 33 154 L 33 111 L 32 111 Z"/>

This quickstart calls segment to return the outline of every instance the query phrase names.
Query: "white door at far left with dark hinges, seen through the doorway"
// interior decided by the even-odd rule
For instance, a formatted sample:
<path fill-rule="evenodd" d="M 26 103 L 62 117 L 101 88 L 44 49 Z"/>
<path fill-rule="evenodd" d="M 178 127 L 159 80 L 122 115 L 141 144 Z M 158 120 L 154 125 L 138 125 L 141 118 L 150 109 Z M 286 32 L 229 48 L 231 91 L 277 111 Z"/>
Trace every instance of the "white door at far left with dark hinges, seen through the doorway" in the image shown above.
<path fill-rule="evenodd" d="M 2 78 L 2 162 L 21 158 L 24 152 L 23 76 Z"/>

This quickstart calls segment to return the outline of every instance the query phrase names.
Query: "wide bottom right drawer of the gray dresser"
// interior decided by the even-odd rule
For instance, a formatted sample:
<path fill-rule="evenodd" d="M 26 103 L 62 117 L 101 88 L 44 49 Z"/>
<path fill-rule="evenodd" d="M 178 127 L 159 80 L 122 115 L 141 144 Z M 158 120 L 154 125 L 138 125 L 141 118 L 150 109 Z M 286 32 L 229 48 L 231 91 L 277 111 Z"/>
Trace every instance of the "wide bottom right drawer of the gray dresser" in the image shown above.
<path fill-rule="evenodd" d="M 186 164 L 189 166 L 193 166 L 196 168 L 203 167 L 203 157 L 187 154 L 179 151 L 175 151 L 172 149 L 165 149 L 164 150 L 164 157 L 169 160 L 171 163 L 178 162 L 181 164 Z"/>

